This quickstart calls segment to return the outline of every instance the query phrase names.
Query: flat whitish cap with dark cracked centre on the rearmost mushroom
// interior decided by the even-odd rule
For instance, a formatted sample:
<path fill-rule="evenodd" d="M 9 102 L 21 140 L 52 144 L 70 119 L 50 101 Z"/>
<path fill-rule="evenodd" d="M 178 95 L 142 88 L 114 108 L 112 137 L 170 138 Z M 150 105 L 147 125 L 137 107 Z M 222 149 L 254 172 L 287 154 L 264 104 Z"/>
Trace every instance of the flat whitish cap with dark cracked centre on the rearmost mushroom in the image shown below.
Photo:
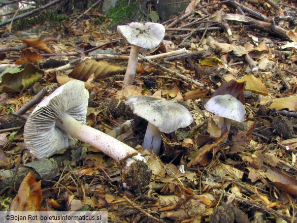
<path fill-rule="evenodd" d="M 129 44 L 145 49 L 157 47 L 165 36 L 164 26 L 154 22 L 131 22 L 118 25 L 117 30 Z"/>

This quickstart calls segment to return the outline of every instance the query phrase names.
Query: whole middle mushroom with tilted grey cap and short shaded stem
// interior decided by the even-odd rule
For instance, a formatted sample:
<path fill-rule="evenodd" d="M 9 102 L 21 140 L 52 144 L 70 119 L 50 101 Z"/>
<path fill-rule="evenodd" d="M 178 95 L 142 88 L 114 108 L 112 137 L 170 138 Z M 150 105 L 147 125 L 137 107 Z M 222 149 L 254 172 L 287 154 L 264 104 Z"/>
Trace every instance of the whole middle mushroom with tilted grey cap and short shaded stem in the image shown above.
<path fill-rule="evenodd" d="M 134 114 L 148 121 L 143 148 L 159 154 L 162 132 L 172 133 L 191 124 L 193 117 L 182 105 L 148 96 L 132 96 L 126 102 Z"/>

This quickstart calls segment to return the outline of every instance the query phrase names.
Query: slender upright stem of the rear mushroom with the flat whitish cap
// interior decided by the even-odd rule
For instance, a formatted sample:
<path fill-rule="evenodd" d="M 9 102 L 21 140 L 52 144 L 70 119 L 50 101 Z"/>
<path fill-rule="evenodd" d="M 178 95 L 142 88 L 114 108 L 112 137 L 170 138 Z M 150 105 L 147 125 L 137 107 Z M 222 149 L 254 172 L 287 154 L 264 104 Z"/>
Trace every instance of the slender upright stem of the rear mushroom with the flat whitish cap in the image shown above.
<path fill-rule="evenodd" d="M 136 74 L 136 66 L 138 61 L 139 47 L 133 46 L 131 47 L 127 70 L 125 73 L 125 77 L 123 80 L 122 89 L 124 89 L 128 85 L 132 85 L 135 74 Z"/>

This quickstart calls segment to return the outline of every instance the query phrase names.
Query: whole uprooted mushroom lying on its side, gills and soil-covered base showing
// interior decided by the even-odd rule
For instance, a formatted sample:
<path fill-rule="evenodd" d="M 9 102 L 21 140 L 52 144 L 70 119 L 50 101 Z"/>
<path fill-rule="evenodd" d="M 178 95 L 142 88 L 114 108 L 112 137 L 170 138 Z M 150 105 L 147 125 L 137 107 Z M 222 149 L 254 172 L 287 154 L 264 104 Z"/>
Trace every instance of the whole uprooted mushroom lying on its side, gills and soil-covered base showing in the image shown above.
<path fill-rule="evenodd" d="M 151 170 L 137 150 L 84 124 L 88 99 L 82 81 L 58 87 L 28 117 L 24 126 L 26 147 L 41 159 L 76 144 L 79 139 L 120 163 L 123 183 L 128 188 L 147 185 Z"/>

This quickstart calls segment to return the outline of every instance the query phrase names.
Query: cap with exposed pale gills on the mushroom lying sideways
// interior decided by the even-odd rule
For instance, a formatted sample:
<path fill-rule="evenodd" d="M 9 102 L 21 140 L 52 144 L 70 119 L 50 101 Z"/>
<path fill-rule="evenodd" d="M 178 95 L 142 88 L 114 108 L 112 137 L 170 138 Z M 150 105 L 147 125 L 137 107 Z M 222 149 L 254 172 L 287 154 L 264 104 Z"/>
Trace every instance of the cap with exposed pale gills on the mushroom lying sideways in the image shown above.
<path fill-rule="evenodd" d="M 82 81 L 70 81 L 58 87 L 43 100 L 28 117 L 24 126 L 24 142 L 38 159 L 77 142 L 71 135 L 60 130 L 56 123 L 63 113 L 68 113 L 85 123 L 89 93 Z"/>

